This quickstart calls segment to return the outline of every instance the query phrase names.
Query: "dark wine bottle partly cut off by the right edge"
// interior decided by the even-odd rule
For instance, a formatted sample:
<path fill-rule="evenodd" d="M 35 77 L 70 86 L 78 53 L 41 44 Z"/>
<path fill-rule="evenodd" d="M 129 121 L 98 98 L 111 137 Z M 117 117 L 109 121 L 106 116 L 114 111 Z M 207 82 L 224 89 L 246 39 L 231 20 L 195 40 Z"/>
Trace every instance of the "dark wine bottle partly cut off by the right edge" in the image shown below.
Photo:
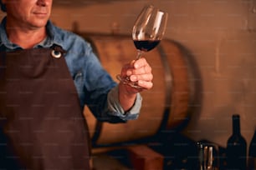
<path fill-rule="evenodd" d="M 248 148 L 248 170 L 256 169 L 256 127 Z"/>

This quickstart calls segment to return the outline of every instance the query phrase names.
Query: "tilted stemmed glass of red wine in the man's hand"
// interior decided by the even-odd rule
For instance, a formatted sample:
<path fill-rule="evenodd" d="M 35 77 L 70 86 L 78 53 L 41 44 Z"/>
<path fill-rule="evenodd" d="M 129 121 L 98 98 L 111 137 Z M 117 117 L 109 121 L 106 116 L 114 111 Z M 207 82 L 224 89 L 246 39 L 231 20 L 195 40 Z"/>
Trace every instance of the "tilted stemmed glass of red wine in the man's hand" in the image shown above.
<path fill-rule="evenodd" d="M 147 5 L 136 19 L 132 29 L 132 40 L 137 48 L 136 60 L 140 59 L 143 52 L 149 52 L 161 41 L 166 30 L 168 14 L 160 9 Z M 131 82 L 130 77 L 116 76 L 117 79 L 131 87 L 141 88 L 138 82 Z"/>

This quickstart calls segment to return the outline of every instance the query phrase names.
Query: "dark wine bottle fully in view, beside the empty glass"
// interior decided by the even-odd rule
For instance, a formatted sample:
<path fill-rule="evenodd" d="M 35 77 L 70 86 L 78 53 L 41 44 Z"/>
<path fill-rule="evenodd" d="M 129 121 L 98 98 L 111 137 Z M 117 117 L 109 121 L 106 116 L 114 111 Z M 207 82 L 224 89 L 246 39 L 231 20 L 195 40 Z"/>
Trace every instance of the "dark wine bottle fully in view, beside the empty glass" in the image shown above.
<path fill-rule="evenodd" d="M 233 115 L 233 133 L 227 143 L 227 166 L 228 169 L 246 169 L 247 144 L 240 132 L 240 116 Z"/>

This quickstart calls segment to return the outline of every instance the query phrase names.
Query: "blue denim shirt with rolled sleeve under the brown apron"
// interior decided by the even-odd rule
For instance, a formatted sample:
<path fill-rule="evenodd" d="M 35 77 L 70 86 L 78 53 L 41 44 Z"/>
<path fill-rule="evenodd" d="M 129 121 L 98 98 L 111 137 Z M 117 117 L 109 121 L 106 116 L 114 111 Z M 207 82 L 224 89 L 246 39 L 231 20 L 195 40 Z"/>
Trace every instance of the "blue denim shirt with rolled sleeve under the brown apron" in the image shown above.
<path fill-rule="evenodd" d="M 0 51 L 10 52 L 23 49 L 8 40 L 5 31 L 6 18 L 0 25 Z M 101 66 L 89 42 L 73 32 L 55 27 L 50 21 L 46 25 L 48 37 L 34 47 L 62 47 L 67 53 L 64 58 L 79 95 L 80 106 L 87 105 L 100 121 L 125 122 L 136 119 L 141 109 L 142 97 L 137 93 L 136 102 L 124 112 L 118 99 L 118 84 Z"/>

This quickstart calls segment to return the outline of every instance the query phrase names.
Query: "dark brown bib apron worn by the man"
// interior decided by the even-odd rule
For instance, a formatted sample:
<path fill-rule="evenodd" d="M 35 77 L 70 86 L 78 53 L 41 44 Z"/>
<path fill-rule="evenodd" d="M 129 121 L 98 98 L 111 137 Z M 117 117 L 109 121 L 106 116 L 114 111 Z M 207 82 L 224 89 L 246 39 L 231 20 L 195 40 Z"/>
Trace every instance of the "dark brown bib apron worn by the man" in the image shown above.
<path fill-rule="evenodd" d="M 1 52 L 0 169 L 89 169 L 87 124 L 53 48 Z"/>

